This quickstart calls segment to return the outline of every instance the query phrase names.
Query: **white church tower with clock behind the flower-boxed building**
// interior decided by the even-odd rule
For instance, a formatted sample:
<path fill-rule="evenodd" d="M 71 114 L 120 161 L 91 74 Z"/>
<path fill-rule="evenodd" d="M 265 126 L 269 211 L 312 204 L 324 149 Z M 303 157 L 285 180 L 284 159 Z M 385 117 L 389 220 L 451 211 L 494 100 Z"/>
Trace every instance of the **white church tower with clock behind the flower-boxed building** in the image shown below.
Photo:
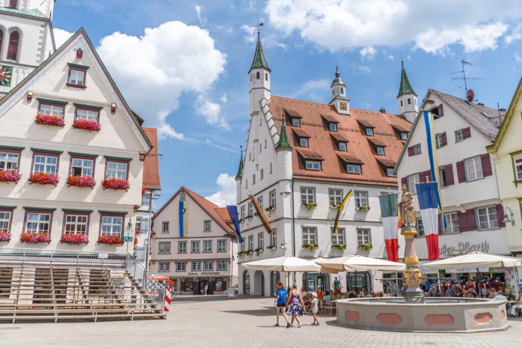
<path fill-rule="evenodd" d="M 55 0 L 0 0 L 0 97 L 56 50 Z"/>

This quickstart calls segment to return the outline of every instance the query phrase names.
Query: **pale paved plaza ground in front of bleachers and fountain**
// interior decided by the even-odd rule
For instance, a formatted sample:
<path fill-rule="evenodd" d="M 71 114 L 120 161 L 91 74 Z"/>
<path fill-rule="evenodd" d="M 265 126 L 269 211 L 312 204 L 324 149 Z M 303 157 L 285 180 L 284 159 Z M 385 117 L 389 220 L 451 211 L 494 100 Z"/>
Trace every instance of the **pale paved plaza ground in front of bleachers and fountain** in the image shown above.
<path fill-rule="evenodd" d="M 1 324 L 0 346 L 6 347 L 491 347 L 516 346 L 522 321 L 509 320 L 502 332 L 431 334 L 355 330 L 321 315 L 319 327 L 304 316 L 303 327 L 275 323 L 270 298 L 178 296 L 167 320 Z"/>

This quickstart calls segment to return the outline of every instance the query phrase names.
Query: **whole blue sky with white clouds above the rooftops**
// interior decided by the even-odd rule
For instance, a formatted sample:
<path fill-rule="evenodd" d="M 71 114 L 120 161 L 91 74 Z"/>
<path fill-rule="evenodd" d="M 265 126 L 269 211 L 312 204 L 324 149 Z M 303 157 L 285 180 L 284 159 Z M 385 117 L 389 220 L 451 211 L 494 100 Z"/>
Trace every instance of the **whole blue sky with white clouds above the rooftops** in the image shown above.
<path fill-rule="evenodd" d="M 272 95 L 327 103 L 338 65 L 351 107 L 396 113 L 401 55 L 419 102 L 428 88 L 464 98 L 450 73 L 465 58 L 476 99 L 507 109 L 520 18 L 516 1 L 60 0 L 53 27 L 57 43 L 84 27 L 144 126 L 160 129 L 159 207 L 182 185 L 234 201 L 258 21 Z"/>

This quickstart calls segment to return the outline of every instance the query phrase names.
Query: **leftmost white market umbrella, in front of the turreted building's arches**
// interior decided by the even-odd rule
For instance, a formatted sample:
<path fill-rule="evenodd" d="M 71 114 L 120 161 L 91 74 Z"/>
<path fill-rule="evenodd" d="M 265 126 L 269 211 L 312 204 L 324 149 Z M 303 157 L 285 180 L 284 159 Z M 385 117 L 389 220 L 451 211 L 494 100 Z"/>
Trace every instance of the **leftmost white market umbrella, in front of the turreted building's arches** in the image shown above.
<path fill-rule="evenodd" d="M 280 272 L 320 272 L 321 266 L 314 261 L 295 256 L 279 256 L 241 263 L 248 270 L 280 271 Z"/>

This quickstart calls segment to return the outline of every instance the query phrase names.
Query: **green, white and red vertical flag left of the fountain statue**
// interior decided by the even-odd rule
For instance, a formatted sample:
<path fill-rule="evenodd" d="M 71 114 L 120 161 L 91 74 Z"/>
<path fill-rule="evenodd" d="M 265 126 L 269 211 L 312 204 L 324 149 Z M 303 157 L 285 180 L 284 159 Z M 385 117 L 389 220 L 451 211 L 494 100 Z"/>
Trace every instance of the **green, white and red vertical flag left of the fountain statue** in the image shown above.
<path fill-rule="evenodd" d="M 383 219 L 384 240 L 388 261 L 399 262 L 399 228 L 397 202 L 399 194 L 385 194 L 379 196 L 381 205 L 381 217 Z"/>

